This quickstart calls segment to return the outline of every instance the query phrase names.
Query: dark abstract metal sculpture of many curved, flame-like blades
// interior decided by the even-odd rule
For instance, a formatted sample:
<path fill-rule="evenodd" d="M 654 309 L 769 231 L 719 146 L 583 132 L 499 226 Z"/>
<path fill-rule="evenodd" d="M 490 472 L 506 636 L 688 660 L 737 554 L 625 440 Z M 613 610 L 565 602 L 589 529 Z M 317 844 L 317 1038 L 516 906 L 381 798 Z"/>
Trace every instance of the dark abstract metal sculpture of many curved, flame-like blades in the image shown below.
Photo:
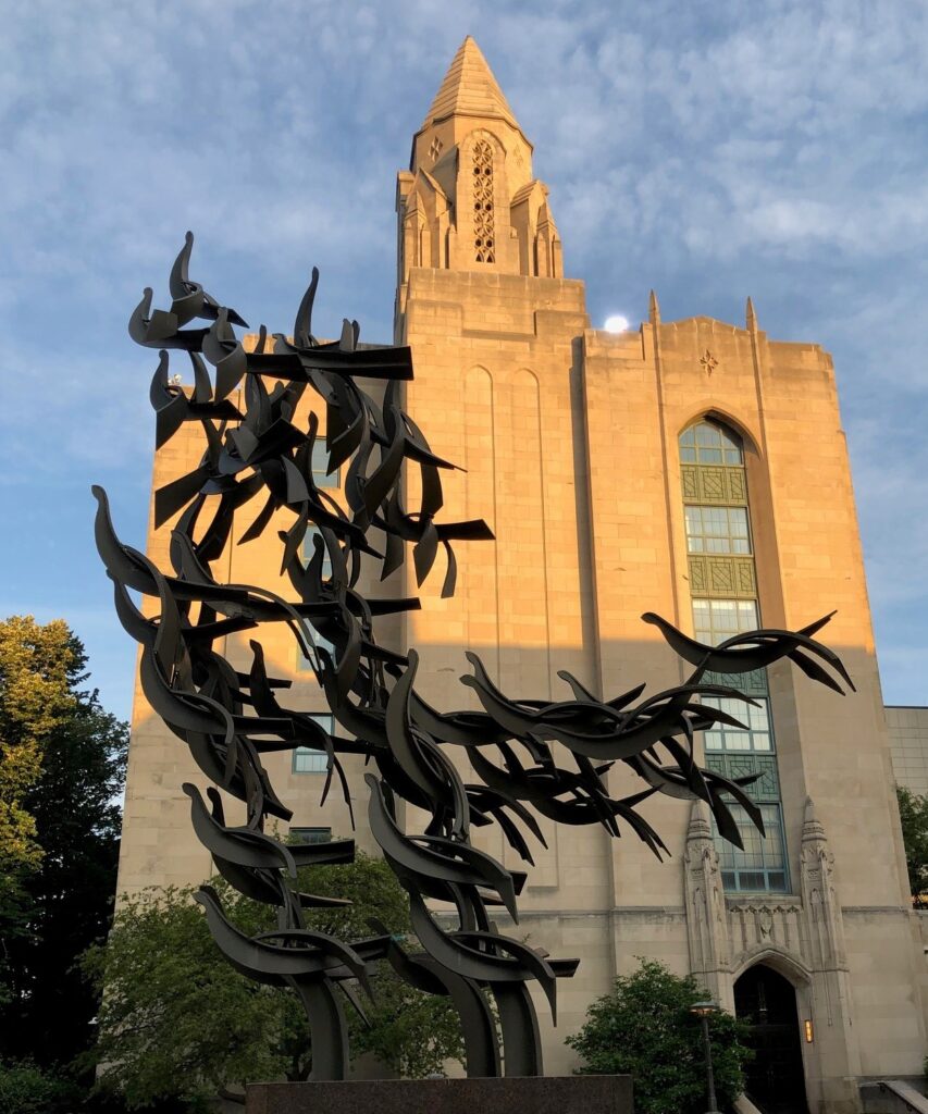
<path fill-rule="evenodd" d="M 97 547 L 115 584 L 119 618 L 141 644 L 145 696 L 209 781 L 244 803 L 245 823 L 229 824 L 216 789 L 207 790 L 207 804 L 194 785 L 185 784 L 196 836 L 226 881 L 277 910 L 277 928 L 250 938 L 226 919 L 211 887 L 204 886 L 197 900 L 233 966 L 252 979 L 292 987 L 300 996 L 314 1078 L 345 1076 L 342 996 L 363 1016 L 355 987 L 371 993 L 371 964 L 379 959 L 413 986 L 450 996 L 462 1022 L 469 1075 L 492 1076 L 502 1069 L 514 1076 L 539 1075 L 538 1026 L 526 984 L 538 980 L 556 1014 L 556 980 L 572 976 L 578 960 L 550 959 L 497 930 L 488 908 L 502 907 L 518 921 L 516 898 L 526 874 L 475 848 L 471 824 L 496 822 L 531 864 L 517 823 L 544 844 L 531 810 L 560 823 L 602 824 L 613 836 L 626 823 L 660 859 L 664 844 L 637 807 L 661 792 L 705 801 L 722 836 L 740 846 L 724 794 L 762 828 L 760 810 L 744 791 L 758 775 L 729 780 L 701 769 L 694 761 L 694 733 L 715 723 L 741 726 L 726 712 L 700 704 L 701 695 L 751 701 L 706 674 L 736 675 L 789 657 L 813 680 L 842 692 L 827 667 L 848 684 L 850 678 L 839 658 L 813 637 L 829 616 L 798 633 L 751 632 L 712 647 L 647 614 L 644 619 L 660 627 L 693 673 L 685 684 L 639 703 L 644 685 L 600 701 L 565 672 L 559 675 L 572 690 L 570 700 L 510 700 L 479 657 L 468 653 L 473 672 L 461 680 L 476 691 L 483 711 L 431 707 L 414 687 L 416 652 L 394 653 L 379 645 L 374 633 L 377 616 L 417 608 L 419 602 L 365 598 L 358 590 L 362 555 L 380 563 L 383 579 L 402 565 L 406 543 L 411 543 L 421 585 L 441 545 L 447 596 L 455 590 L 457 570 L 451 543 L 492 535 L 480 520 L 437 521 L 440 470 L 453 466 L 431 451 L 401 409 L 400 383 L 412 378 L 409 349 L 361 348 L 358 324 L 348 321 L 338 342 L 319 342 L 311 329 L 314 270 L 292 340 L 275 334 L 268 341 L 262 326 L 254 350 L 246 351 L 233 328 L 245 322 L 189 280 L 192 246 L 188 233 L 170 275 L 170 310 L 153 310 L 152 291 L 146 290 L 129 323 L 135 341 L 160 350 L 150 390 L 156 444 L 165 444 L 187 421 L 199 421 L 205 432 L 199 466 L 155 495 L 156 525 L 179 515 L 172 534 L 173 575 L 123 545 L 105 492 L 94 488 L 94 494 Z M 207 324 L 185 328 L 194 319 Z M 169 350 L 188 354 L 192 391 L 172 382 Z M 215 385 L 207 363 L 215 368 Z M 361 388 L 360 379 L 385 380 L 382 403 Z M 243 380 L 244 412 L 229 398 Z M 265 380 L 273 381 L 270 390 Z M 294 423 L 307 387 L 325 403 L 329 471 L 346 466 L 348 510 L 313 479 L 316 414 L 310 414 L 305 431 Z M 421 477 L 416 511 L 408 511 L 403 501 L 408 467 L 418 467 Z M 260 494 L 265 496 L 263 508 L 240 544 L 258 537 L 276 511 L 292 514 L 290 529 L 280 536 L 282 569 L 295 599 L 257 586 L 223 584 L 214 576 L 212 565 L 231 544 L 234 512 Z M 311 527 L 313 554 L 304 564 Z M 385 539 L 382 554 L 369 540 L 372 529 Z M 130 590 L 156 597 L 157 617 L 145 616 Z M 218 638 L 268 623 L 289 626 L 345 735 L 330 735 L 305 713 L 281 703 L 279 692 L 289 682 L 267 675 L 260 642 L 251 642 L 247 674 L 214 648 Z M 555 742 L 561 744 L 557 751 Z M 346 942 L 305 927 L 303 910 L 332 899 L 299 892 L 292 885 L 297 868 L 350 861 L 354 844 L 287 846 L 265 833 L 268 818 L 286 821 L 291 812 L 274 793 L 262 754 L 296 746 L 326 753 L 323 800 L 338 778 L 349 808 L 340 756 L 362 754 L 372 762 L 377 773 L 365 775 L 370 828 L 409 893 L 423 952 L 408 954 L 384 931 Z M 452 747 L 466 749 L 479 784 L 462 781 L 449 758 Z M 559 764 L 568 755 L 569 769 Z M 609 795 L 604 775 L 616 762 L 643 780 L 641 792 L 617 800 Z M 421 834 L 402 830 L 398 799 L 430 817 Z M 457 926 L 442 927 L 429 902 L 450 906 Z"/>

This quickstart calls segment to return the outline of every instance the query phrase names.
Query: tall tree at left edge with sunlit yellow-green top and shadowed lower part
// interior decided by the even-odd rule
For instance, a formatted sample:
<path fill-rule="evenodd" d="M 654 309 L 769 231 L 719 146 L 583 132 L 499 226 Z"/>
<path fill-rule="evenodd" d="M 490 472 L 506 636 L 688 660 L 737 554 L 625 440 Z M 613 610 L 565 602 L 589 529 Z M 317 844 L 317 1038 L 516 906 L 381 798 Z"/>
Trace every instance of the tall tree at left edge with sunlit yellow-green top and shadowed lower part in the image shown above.
<path fill-rule="evenodd" d="M 0 858 L 13 879 L 0 900 L 0 1053 L 32 1057 L 41 1068 L 67 1063 L 92 1040 L 99 999 L 75 964 L 106 937 L 116 890 L 127 729 L 102 711 L 96 691 L 80 687 L 86 665 L 82 645 L 60 620 L 0 623 L 4 786 L 17 781 L 11 770 L 35 766 L 18 778 L 14 808 L 0 825 Z M 31 850 L 23 854 L 27 828 Z"/>

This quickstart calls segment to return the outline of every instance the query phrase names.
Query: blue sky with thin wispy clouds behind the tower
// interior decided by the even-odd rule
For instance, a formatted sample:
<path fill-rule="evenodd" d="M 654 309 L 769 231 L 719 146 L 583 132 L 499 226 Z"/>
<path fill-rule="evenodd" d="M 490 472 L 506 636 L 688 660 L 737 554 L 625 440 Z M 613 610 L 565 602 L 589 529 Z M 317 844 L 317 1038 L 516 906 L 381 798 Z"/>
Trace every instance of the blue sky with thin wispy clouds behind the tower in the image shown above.
<path fill-rule="evenodd" d="M 888 703 L 928 703 L 928 4 L 32 0 L 0 10 L 0 615 L 64 616 L 128 716 L 91 482 L 144 543 L 150 353 L 192 273 L 253 325 L 389 340 L 394 176 L 463 37 L 595 324 L 707 314 L 834 355 Z M 326 330 L 326 322 L 331 323 Z M 827 602 L 823 602 L 823 604 Z M 643 609 L 646 600 L 643 600 Z M 812 616 L 810 616 L 811 618 Z"/>

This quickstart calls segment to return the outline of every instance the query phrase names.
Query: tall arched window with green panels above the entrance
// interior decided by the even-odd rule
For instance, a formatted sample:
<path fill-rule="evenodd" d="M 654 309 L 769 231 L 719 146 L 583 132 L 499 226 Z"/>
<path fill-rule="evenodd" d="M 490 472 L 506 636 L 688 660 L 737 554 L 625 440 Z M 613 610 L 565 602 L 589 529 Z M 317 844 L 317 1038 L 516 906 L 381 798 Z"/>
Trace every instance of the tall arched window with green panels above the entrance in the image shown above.
<path fill-rule="evenodd" d="M 744 446 L 734 430 L 705 418 L 680 438 L 686 551 L 695 637 L 715 645 L 761 625 L 754 535 L 744 469 Z M 745 730 L 716 725 L 703 735 L 705 764 L 726 776 L 760 773 L 748 792 L 758 802 L 766 837 L 729 802 L 744 841 L 739 851 L 716 833 L 722 880 L 730 891 L 789 889 L 776 744 L 764 671 L 707 680 L 739 687 L 756 706 L 726 697 L 703 703 L 729 712 Z"/>

